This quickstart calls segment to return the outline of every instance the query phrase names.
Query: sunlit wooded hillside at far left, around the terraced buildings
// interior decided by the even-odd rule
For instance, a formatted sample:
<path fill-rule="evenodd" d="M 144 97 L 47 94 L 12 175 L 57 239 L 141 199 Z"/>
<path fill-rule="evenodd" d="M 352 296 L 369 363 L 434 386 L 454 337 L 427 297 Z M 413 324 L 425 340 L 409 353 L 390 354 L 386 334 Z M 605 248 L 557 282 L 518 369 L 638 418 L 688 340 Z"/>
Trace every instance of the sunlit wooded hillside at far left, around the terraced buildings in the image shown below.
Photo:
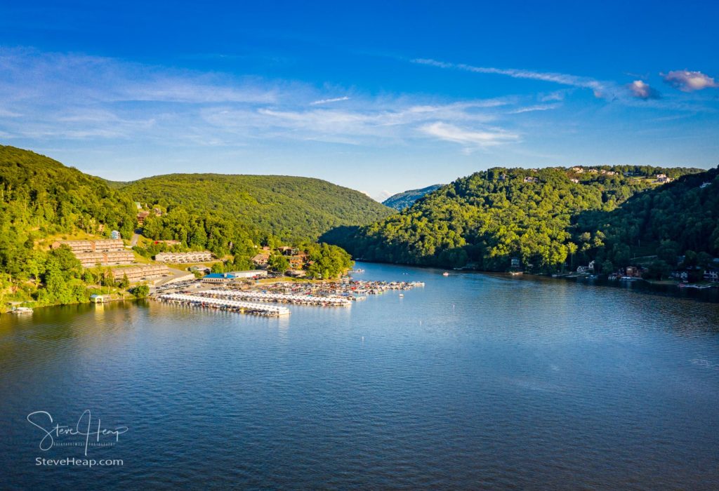
<path fill-rule="evenodd" d="M 37 292 L 41 303 L 85 296 L 82 268 L 63 249 L 35 247 L 48 235 L 132 235 L 136 210 L 103 179 L 32 151 L 0 146 L 0 296 L 9 286 Z"/>

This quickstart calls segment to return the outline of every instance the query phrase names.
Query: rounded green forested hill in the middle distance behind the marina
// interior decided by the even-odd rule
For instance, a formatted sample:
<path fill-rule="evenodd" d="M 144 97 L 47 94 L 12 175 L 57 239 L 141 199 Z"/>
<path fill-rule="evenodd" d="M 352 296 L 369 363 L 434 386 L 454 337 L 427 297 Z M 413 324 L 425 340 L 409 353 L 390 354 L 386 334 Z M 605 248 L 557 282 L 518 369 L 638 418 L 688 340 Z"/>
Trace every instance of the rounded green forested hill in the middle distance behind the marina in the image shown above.
<path fill-rule="evenodd" d="M 252 237 L 314 240 L 339 225 L 365 225 L 392 212 L 361 192 L 306 177 L 169 174 L 139 179 L 122 190 L 168 210 L 147 223 L 150 236 L 180 240 L 192 235 L 178 227 L 193 221 L 188 215 L 230 221 Z"/>

